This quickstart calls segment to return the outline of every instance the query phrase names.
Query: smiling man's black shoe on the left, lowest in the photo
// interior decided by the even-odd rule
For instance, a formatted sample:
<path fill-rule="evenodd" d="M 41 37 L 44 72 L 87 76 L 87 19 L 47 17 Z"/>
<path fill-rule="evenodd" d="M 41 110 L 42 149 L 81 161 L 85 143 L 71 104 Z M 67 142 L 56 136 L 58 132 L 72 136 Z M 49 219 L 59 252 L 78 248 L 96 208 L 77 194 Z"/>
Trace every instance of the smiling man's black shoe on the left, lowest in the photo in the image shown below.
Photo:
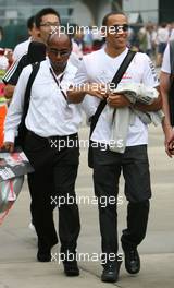
<path fill-rule="evenodd" d="M 101 280 L 104 283 L 115 283 L 119 278 L 119 272 L 121 262 L 109 262 L 104 265 L 104 269 L 101 274 Z"/>

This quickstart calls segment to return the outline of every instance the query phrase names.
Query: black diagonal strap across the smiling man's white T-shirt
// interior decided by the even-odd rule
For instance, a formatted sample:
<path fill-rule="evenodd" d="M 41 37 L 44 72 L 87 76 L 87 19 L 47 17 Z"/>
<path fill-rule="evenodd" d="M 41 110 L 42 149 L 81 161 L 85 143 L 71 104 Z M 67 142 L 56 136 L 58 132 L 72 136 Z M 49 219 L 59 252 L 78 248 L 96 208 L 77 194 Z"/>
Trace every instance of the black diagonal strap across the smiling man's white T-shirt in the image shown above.
<path fill-rule="evenodd" d="M 120 65 L 119 70 L 116 71 L 114 77 L 112 79 L 111 83 L 115 84 L 115 88 L 117 87 L 119 82 L 122 80 L 125 71 L 127 70 L 129 63 L 132 62 L 134 56 L 136 55 L 135 51 L 128 50 L 128 53 L 126 55 L 126 57 L 124 58 L 122 64 Z M 102 110 L 104 109 L 107 105 L 107 99 L 103 99 L 102 101 L 100 101 L 95 115 L 91 117 L 91 124 L 90 124 L 90 134 L 89 136 L 91 136 L 96 124 L 99 120 L 99 117 L 102 112 Z"/>

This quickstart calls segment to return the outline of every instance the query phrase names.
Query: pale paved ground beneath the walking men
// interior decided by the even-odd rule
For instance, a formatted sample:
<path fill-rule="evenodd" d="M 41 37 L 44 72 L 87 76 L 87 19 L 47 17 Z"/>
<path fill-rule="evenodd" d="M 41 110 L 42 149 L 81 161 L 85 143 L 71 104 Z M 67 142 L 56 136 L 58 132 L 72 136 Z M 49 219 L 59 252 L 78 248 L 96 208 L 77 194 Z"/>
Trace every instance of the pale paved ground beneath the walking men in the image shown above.
<path fill-rule="evenodd" d="M 87 137 L 87 129 L 80 131 Z M 161 128 L 150 128 L 149 158 L 153 199 L 147 238 L 139 247 L 141 271 L 137 276 L 126 273 L 122 264 L 116 284 L 100 281 L 101 266 L 96 261 L 80 261 L 80 276 L 67 278 L 58 263 L 59 244 L 52 251 L 51 263 L 36 261 L 36 238 L 29 230 L 29 196 L 26 184 L 18 201 L 0 227 L 0 288 L 58 288 L 58 287 L 174 287 L 174 159 L 165 156 Z M 92 199 L 91 170 L 86 165 L 86 151 L 82 149 L 77 194 Z M 123 180 L 121 194 L 123 195 Z M 78 253 L 100 254 L 98 211 L 96 205 L 79 205 L 82 232 Z M 125 227 L 126 202 L 119 206 L 119 231 Z M 57 213 L 55 213 L 57 214 Z M 57 218 L 57 215 L 55 215 Z M 120 251 L 122 253 L 122 251 Z M 57 261 L 55 261 L 57 260 Z"/>

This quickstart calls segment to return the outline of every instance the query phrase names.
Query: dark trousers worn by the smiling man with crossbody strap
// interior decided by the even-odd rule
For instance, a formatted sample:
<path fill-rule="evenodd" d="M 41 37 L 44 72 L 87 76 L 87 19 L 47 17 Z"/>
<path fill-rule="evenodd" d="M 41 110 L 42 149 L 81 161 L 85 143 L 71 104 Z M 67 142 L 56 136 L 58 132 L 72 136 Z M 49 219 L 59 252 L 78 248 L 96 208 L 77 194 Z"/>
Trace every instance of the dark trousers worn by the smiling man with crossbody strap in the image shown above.
<path fill-rule="evenodd" d="M 94 185 L 98 197 L 102 252 L 117 253 L 117 194 L 121 171 L 125 179 L 127 228 L 121 238 L 124 249 L 136 248 L 145 238 L 151 196 L 147 146 L 126 147 L 124 154 L 94 148 Z M 107 205 L 102 205 L 102 197 Z M 115 199 L 115 202 L 113 201 Z"/>

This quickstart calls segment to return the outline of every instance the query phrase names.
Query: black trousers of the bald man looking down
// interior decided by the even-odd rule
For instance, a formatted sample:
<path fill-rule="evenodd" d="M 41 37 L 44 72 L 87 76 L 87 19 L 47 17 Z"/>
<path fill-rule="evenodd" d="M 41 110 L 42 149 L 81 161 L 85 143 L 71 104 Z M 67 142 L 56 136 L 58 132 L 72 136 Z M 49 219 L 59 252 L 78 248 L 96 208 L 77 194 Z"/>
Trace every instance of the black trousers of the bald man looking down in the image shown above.
<path fill-rule="evenodd" d="M 32 196 L 30 211 L 38 236 L 38 247 L 51 249 L 58 242 L 53 221 L 53 208 L 59 205 L 59 237 L 61 252 L 75 252 L 79 235 L 79 213 L 75 200 L 75 180 L 78 169 L 79 147 L 77 135 L 67 137 L 44 139 L 28 132 L 25 140 L 25 153 L 35 172 L 28 175 L 28 184 Z M 59 145 L 63 141 L 64 145 Z M 74 145 L 72 145 L 74 141 Z M 71 195 L 74 202 L 70 205 L 66 196 Z"/>

